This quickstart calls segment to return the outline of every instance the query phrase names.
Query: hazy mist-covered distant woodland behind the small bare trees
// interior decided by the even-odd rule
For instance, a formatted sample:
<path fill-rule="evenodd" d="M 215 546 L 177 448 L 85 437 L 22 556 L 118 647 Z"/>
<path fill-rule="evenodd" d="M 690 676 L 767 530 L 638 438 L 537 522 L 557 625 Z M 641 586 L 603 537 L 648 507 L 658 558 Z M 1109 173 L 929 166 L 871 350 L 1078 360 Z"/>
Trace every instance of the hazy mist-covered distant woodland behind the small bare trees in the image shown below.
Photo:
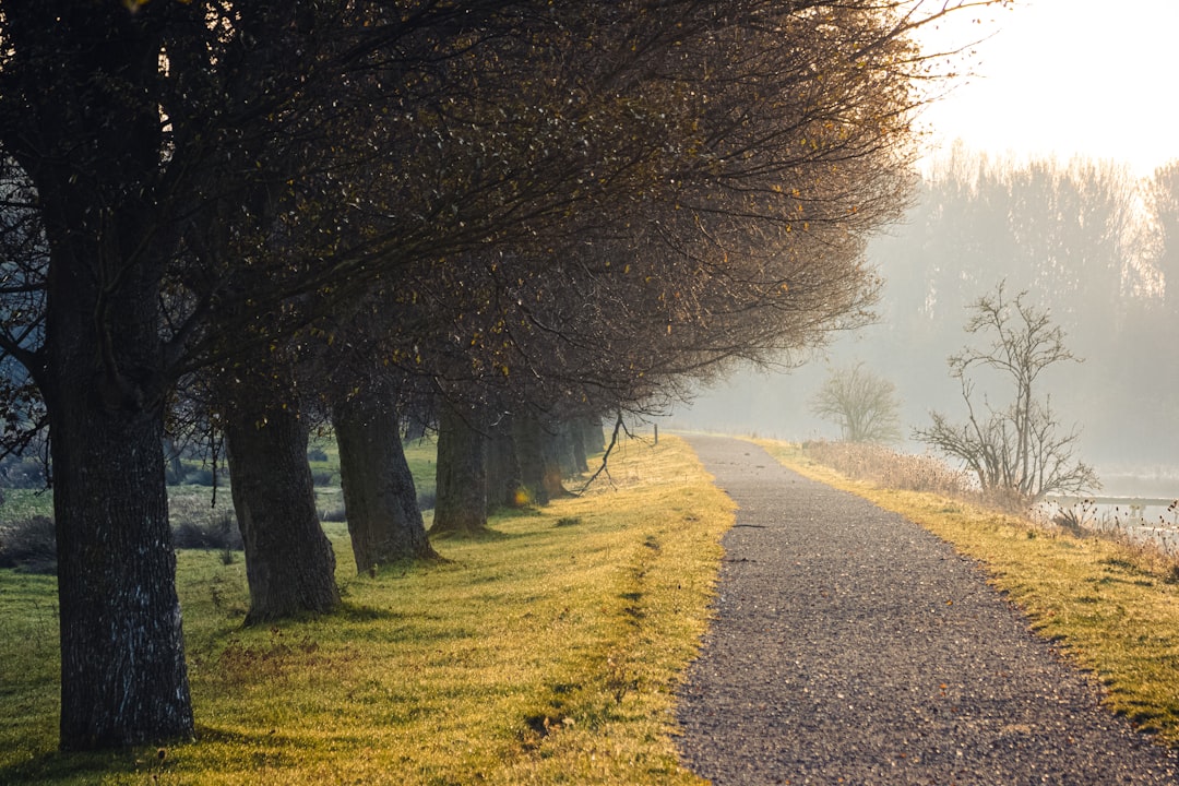
<path fill-rule="evenodd" d="M 883 279 L 876 324 L 837 337 L 790 372 L 739 369 L 677 407 L 671 428 L 791 441 L 838 438 L 810 411 L 831 368 L 864 366 L 893 382 L 902 432 L 930 410 L 964 420 L 947 357 L 982 337 L 968 306 L 999 282 L 1050 310 L 1082 363 L 1039 381 L 1061 427 L 1078 425 L 1079 458 L 1106 494 L 1179 494 L 1179 161 L 1148 177 L 1075 158 L 1016 161 L 961 145 L 922 177 L 907 219 L 874 238 L 868 264 Z M 1168 282 L 1171 283 L 1168 291 Z M 1009 399 L 990 391 L 992 403 Z M 901 450 L 923 451 L 907 442 Z"/>

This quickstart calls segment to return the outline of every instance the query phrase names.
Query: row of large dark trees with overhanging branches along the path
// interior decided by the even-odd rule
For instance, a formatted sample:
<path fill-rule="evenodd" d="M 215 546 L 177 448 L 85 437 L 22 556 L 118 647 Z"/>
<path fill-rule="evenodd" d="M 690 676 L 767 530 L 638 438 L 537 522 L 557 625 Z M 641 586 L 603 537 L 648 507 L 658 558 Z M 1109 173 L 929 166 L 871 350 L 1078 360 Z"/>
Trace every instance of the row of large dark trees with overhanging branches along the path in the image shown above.
<path fill-rule="evenodd" d="M 858 323 L 863 238 L 903 205 L 929 75 L 900 1 L 4 0 L 0 19 L 0 392 L 9 445 L 50 432 L 64 748 L 193 731 L 171 425 L 224 435 L 250 619 L 330 610 L 316 417 L 374 566 L 429 553 L 399 502 L 403 412 L 435 414 L 448 501 L 541 494 L 546 424 Z M 488 461 L 505 434 L 516 460 Z M 505 465 L 520 477 L 486 480 Z M 440 527 L 486 509 L 444 504 Z"/>

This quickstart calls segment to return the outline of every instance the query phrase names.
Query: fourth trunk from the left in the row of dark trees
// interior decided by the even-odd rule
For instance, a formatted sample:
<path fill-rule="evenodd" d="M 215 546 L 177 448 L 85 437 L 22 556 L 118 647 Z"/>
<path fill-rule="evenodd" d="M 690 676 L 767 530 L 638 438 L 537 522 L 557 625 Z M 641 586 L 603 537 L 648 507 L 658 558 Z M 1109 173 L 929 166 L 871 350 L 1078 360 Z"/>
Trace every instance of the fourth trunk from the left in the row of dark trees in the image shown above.
<path fill-rule="evenodd" d="M 430 534 L 487 530 L 486 437 L 449 402 L 439 408 L 437 487 Z"/>

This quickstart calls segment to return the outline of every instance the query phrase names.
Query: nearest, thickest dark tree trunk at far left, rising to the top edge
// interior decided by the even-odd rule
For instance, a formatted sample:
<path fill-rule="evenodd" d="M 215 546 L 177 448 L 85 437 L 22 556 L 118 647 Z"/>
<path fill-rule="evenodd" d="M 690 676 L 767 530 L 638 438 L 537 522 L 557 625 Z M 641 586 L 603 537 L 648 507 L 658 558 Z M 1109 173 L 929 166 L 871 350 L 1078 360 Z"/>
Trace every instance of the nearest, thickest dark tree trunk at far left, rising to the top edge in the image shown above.
<path fill-rule="evenodd" d="M 158 34 L 113 5 L 18 4 L 4 35 L 5 181 L 18 160 L 50 255 L 41 355 L 25 351 L 35 332 L 6 349 L 50 420 L 60 744 L 191 738 L 160 450 L 159 280 L 176 235 L 154 187 L 159 105 L 143 99 L 159 84 Z M 5 318 L 35 318 L 27 309 L 35 299 L 8 303 Z"/>

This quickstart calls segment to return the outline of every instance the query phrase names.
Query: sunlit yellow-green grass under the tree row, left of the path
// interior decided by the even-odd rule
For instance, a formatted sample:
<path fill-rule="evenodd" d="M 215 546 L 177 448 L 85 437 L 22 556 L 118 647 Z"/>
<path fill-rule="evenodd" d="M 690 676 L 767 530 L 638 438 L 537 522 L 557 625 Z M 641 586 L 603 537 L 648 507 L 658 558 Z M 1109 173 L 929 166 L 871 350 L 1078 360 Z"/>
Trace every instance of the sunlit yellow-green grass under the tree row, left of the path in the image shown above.
<path fill-rule="evenodd" d="M 242 562 L 182 551 L 199 740 L 160 751 L 54 751 L 53 580 L 0 570 L 0 782 L 700 784 L 672 689 L 731 506 L 674 438 L 612 475 L 375 579 L 328 524 L 345 607 L 298 623 L 243 629 Z"/>

